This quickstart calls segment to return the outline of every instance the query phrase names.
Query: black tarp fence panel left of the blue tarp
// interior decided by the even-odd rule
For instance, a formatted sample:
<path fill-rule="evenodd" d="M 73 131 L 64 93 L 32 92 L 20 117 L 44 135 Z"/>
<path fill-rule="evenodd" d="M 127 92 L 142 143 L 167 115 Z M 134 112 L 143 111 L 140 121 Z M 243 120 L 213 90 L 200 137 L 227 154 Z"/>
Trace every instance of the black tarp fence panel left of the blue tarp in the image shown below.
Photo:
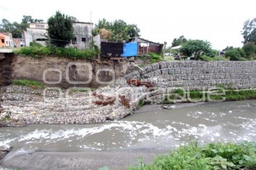
<path fill-rule="evenodd" d="M 110 55 L 109 55 L 110 54 Z M 123 43 L 101 42 L 101 56 L 121 56 L 123 54 Z"/>

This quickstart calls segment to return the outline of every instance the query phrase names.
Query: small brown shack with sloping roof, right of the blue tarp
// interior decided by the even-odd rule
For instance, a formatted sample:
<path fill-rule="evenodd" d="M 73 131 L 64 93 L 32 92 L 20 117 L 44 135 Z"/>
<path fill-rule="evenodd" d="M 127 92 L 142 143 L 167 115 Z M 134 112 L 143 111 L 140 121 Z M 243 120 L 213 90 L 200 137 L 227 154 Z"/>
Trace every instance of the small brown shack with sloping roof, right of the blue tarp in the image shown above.
<path fill-rule="evenodd" d="M 130 42 L 138 42 L 138 55 L 148 55 L 149 52 L 159 53 L 163 45 L 153 41 L 146 40 L 140 37 L 134 37 L 129 40 Z"/>

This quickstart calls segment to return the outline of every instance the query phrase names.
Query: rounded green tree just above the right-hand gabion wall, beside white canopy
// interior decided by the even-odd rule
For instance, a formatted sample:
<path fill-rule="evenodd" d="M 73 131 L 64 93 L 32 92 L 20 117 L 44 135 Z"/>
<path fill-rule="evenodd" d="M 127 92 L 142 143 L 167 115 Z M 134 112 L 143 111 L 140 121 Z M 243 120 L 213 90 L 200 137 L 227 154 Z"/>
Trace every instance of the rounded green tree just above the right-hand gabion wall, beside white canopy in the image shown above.
<path fill-rule="evenodd" d="M 211 51 L 211 43 L 203 40 L 188 40 L 180 48 L 185 56 L 192 56 L 195 54 L 195 59 L 198 60 L 202 52 L 209 53 Z"/>

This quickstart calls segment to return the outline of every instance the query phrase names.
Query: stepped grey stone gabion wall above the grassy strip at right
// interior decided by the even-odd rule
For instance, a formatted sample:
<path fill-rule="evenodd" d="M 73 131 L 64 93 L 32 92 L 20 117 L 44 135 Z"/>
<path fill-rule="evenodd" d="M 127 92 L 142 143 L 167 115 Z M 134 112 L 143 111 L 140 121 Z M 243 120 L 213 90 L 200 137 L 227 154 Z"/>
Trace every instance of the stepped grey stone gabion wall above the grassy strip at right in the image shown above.
<path fill-rule="evenodd" d="M 256 61 L 158 62 L 125 76 L 144 79 L 166 87 L 209 87 L 217 84 L 235 88 L 256 87 Z"/>

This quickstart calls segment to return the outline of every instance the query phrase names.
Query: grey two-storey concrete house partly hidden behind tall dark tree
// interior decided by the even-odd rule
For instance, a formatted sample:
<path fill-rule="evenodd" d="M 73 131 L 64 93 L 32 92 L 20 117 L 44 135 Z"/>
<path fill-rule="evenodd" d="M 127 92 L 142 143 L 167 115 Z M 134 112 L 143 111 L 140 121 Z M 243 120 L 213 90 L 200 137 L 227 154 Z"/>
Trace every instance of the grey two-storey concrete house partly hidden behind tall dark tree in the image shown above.
<path fill-rule="evenodd" d="M 30 42 L 37 42 L 46 45 L 46 29 L 48 28 L 47 23 L 30 23 L 27 31 L 23 32 L 25 39 L 25 45 L 29 46 Z M 76 47 L 78 49 L 86 49 L 90 46 L 92 41 L 92 29 L 93 23 L 73 21 L 74 38 L 70 40 L 70 44 L 67 46 Z"/>

